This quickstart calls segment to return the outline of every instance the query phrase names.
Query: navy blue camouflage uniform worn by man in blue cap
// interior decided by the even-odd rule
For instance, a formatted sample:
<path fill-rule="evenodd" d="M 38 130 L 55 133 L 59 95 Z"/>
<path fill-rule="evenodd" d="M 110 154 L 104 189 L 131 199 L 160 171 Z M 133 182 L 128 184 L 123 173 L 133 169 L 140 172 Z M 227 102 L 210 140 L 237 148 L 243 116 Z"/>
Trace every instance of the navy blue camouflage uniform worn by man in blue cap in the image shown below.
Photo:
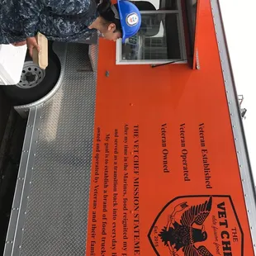
<path fill-rule="evenodd" d="M 96 31 L 88 26 L 99 16 L 92 1 L 0 0 L 0 44 L 21 42 L 37 32 L 49 40 L 63 42 L 88 39 Z M 65 19 L 65 15 L 75 17 L 83 13 L 83 21 Z"/>

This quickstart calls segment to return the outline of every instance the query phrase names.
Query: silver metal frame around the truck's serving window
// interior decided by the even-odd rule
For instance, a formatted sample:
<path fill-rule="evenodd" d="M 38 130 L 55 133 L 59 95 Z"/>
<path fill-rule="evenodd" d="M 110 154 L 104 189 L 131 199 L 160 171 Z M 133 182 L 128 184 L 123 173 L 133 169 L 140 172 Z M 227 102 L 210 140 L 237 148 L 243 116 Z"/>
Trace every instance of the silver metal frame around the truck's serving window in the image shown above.
<path fill-rule="evenodd" d="M 181 50 L 181 59 L 137 59 L 129 60 L 122 59 L 122 43 L 121 40 L 116 41 L 116 64 L 166 64 L 173 62 L 174 64 L 187 64 L 187 49 L 186 49 L 186 39 L 184 33 L 184 24 L 183 24 L 183 10 L 181 1 L 178 2 L 178 10 L 157 10 L 157 11 L 140 11 L 141 14 L 177 14 L 178 17 L 178 31 L 180 35 L 178 37 L 180 50 Z"/>

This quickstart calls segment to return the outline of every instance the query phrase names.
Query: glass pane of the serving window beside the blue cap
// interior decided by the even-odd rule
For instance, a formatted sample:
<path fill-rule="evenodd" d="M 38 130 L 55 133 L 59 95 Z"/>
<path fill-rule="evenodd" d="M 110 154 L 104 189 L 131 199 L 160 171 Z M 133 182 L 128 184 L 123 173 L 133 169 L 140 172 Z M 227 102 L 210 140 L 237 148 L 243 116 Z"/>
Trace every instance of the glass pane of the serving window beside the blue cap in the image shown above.
<path fill-rule="evenodd" d="M 178 14 L 142 14 L 140 31 L 122 45 L 123 60 L 182 59 Z"/>

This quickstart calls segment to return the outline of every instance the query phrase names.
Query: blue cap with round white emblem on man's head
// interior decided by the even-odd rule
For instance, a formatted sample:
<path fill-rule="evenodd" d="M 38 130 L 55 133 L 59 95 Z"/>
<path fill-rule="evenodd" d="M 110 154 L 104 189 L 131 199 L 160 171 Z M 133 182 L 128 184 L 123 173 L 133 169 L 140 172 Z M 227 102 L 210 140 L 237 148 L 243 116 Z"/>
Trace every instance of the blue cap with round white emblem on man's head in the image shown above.
<path fill-rule="evenodd" d="M 134 36 L 140 30 L 141 15 L 135 4 L 129 1 L 117 0 L 117 7 L 118 12 L 114 5 L 111 9 L 115 13 L 115 18 L 121 21 L 122 43 L 125 43 L 127 38 Z"/>

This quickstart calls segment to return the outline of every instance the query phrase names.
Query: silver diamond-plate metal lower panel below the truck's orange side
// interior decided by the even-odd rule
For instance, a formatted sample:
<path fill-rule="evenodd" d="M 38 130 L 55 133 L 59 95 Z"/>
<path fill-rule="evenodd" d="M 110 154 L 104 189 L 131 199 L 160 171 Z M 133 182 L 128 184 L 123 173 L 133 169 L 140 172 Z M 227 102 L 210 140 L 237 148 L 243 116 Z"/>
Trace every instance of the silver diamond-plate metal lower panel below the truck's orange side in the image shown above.
<path fill-rule="evenodd" d="M 35 164 L 20 168 L 30 190 L 10 222 L 4 255 L 85 255 L 97 73 L 88 45 L 68 45 L 65 61 L 58 92 L 33 112 L 41 111 L 28 152 Z"/>

